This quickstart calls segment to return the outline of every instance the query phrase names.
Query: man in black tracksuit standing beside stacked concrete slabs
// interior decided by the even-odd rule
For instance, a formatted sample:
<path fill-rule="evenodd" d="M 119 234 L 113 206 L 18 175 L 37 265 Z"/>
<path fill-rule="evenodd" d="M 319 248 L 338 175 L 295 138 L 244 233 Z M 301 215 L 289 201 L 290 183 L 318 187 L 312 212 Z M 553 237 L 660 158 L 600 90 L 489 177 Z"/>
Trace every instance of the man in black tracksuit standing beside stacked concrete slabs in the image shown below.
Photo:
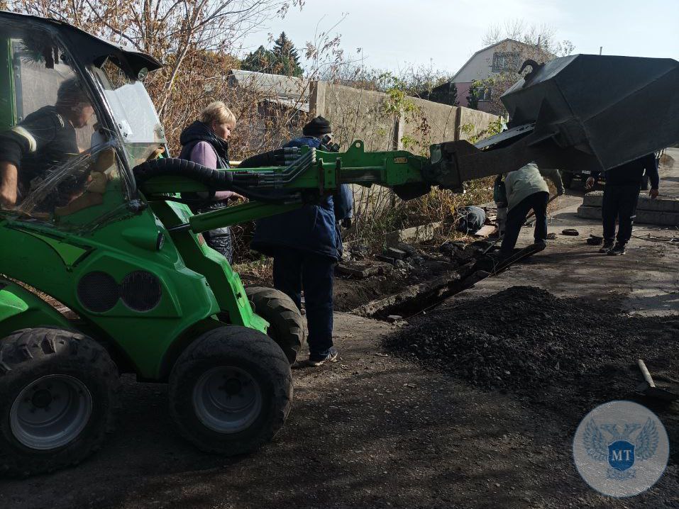
<path fill-rule="evenodd" d="M 606 185 L 604 187 L 604 200 L 601 207 L 601 216 L 604 225 L 604 245 L 599 252 L 617 256 L 625 254 L 625 245 L 632 235 L 632 223 L 636 217 L 636 203 L 639 202 L 641 180 L 644 170 L 651 181 L 651 198 L 658 196 L 658 162 L 653 153 L 639 157 L 639 159 L 626 162 L 609 169 L 605 172 Z M 587 189 L 596 183 L 599 172 L 593 172 L 592 177 L 587 179 Z M 618 220 L 618 235 L 615 237 L 615 220 Z M 615 245 L 613 244 L 613 241 Z"/>

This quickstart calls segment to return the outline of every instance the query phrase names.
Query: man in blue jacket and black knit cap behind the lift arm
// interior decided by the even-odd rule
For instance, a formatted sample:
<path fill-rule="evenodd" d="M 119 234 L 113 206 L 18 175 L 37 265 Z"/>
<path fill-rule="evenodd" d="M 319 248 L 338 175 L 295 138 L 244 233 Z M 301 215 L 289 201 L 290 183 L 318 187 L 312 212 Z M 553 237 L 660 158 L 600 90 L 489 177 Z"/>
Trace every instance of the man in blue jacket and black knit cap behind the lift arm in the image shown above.
<path fill-rule="evenodd" d="M 303 136 L 284 147 L 315 147 L 329 150 L 332 129 L 319 116 L 304 125 Z M 326 137 L 327 138 L 324 138 Z M 307 310 L 310 366 L 336 362 L 333 347 L 333 267 L 342 255 L 338 223 L 350 222 L 353 195 L 349 186 L 317 204 L 256 222 L 253 250 L 273 257 L 273 282 L 302 308 L 302 289 Z"/>

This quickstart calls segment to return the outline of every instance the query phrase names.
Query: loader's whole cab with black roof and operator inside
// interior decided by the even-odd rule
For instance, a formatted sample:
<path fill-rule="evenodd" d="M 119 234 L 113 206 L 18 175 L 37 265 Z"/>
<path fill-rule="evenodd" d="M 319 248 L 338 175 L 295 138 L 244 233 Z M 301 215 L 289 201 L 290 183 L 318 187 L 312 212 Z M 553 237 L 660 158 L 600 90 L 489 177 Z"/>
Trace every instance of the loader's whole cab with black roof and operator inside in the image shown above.
<path fill-rule="evenodd" d="M 157 67 L 77 28 L 0 13 L 0 164 L 17 174 L 0 214 L 78 232 L 142 208 L 131 168 L 165 134 L 139 78 Z"/>

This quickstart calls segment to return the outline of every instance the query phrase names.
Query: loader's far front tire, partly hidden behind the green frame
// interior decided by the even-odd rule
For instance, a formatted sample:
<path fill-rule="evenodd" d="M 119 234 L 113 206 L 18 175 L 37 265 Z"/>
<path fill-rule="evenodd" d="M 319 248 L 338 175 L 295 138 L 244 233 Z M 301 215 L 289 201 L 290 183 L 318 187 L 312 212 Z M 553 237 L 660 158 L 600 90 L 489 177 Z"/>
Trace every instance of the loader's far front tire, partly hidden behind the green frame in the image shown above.
<path fill-rule="evenodd" d="M 255 313 L 270 324 L 267 335 L 281 347 L 292 365 L 304 345 L 304 320 L 292 298 L 274 288 L 248 286 L 248 300 Z"/>

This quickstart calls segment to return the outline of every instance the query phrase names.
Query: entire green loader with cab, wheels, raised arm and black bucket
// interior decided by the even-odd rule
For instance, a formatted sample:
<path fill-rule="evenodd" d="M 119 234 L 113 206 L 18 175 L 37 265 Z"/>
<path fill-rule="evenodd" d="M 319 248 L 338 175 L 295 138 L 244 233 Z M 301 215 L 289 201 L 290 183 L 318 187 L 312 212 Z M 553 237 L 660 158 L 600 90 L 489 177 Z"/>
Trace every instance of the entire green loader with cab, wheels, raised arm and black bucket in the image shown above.
<path fill-rule="evenodd" d="M 121 373 L 167 382 L 177 429 L 204 451 L 241 454 L 280 430 L 304 340 L 299 311 L 275 290 L 245 289 L 202 232 L 344 183 L 409 199 L 534 160 L 607 169 L 679 139 L 678 62 L 574 55 L 534 65 L 507 93 L 511 129 L 477 146 L 446 142 L 419 157 L 355 141 L 218 171 L 165 157 L 141 82 L 160 67 L 148 55 L 16 13 L 0 13 L 0 46 L 6 475 L 77 464 L 101 447 Z M 213 190 L 250 201 L 194 215 L 182 198 Z"/>

